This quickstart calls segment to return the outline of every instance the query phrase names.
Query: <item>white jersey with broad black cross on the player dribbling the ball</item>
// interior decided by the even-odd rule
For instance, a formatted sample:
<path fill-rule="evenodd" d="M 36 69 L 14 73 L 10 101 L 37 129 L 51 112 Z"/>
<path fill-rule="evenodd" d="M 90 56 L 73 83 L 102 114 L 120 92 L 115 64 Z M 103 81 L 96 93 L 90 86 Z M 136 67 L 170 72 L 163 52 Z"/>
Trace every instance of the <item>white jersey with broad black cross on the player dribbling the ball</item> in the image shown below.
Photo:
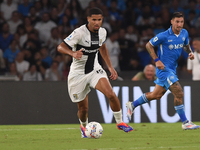
<path fill-rule="evenodd" d="M 99 28 L 98 33 L 91 32 L 87 25 L 82 25 L 75 29 L 68 37 L 64 39 L 72 51 L 83 48 L 83 55 L 80 60 L 73 58 L 70 72 L 77 74 L 87 74 L 92 70 L 101 67 L 98 62 L 99 47 L 106 40 L 106 30 Z"/>

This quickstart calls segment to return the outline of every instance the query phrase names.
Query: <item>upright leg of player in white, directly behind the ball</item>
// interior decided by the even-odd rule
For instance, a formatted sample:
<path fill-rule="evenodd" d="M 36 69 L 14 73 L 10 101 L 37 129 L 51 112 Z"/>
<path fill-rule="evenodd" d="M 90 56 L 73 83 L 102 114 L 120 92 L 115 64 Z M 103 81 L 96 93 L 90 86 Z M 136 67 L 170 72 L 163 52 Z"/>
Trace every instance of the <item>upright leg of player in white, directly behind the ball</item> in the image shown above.
<path fill-rule="evenodd" d="M 85 127 L 88 124 L 88 95 L 85 97 L 84 100 L 78 102 L 77 106 L 78 106 L 77 116 L 80 121 L 81 137 L 87 138 L 85 134 Z"/>

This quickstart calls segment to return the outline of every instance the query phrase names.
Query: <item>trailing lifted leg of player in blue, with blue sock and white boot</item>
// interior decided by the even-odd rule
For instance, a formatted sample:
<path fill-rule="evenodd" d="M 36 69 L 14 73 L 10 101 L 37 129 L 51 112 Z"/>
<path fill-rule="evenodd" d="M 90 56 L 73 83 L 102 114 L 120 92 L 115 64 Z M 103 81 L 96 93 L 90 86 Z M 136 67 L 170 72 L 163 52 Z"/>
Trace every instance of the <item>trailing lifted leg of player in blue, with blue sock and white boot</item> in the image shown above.
<path fill-rule="evenodd" d="M 160 100 L 160 98 L 165 94 L 166 89 L 160 85 L 155 86 L 155 89 L 153 92 L 144 93 L 142 96 L 140 96 L 137 100 L 133 102 L 127 102 L 127 118 L 129 121 L 131 121 L 131 116 L 134 112 L 134 109 L 142 104 L 148 103 L 151 100 Z"/>

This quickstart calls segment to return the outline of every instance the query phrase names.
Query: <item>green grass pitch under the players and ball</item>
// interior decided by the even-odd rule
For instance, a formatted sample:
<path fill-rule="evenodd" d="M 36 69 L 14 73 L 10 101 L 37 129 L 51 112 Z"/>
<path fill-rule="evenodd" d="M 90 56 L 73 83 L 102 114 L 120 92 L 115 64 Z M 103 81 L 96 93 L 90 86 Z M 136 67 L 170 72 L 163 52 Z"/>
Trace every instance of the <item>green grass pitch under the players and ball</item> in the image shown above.
<path fill-rule="evenodd" d="M 200 124 L 200 122 L 194 122 Z M 182 130 L 181 123 L 101 124 L 100 139 L 82 139 L 79 124 L 1 125 L 1 150 L 200 150 L 200 129 Z"/>

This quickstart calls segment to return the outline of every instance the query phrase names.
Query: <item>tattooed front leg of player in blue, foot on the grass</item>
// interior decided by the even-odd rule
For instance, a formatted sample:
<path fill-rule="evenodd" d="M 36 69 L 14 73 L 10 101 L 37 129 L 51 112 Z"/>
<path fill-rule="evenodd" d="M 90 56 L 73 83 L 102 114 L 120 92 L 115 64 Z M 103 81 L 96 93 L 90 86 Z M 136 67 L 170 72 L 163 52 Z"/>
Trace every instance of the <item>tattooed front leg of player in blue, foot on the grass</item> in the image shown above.
<path fill-rule="evenodd" d="M 199 126 L 189 121 L 185 115 L 184 105 L 183 105 L 183 89 L 180 83 L 176 81 L 169 87 L 169 90 L 174 95 L 174 108 L 182 121 L 182 128 L 186 130 L 199 128 Z"/>

